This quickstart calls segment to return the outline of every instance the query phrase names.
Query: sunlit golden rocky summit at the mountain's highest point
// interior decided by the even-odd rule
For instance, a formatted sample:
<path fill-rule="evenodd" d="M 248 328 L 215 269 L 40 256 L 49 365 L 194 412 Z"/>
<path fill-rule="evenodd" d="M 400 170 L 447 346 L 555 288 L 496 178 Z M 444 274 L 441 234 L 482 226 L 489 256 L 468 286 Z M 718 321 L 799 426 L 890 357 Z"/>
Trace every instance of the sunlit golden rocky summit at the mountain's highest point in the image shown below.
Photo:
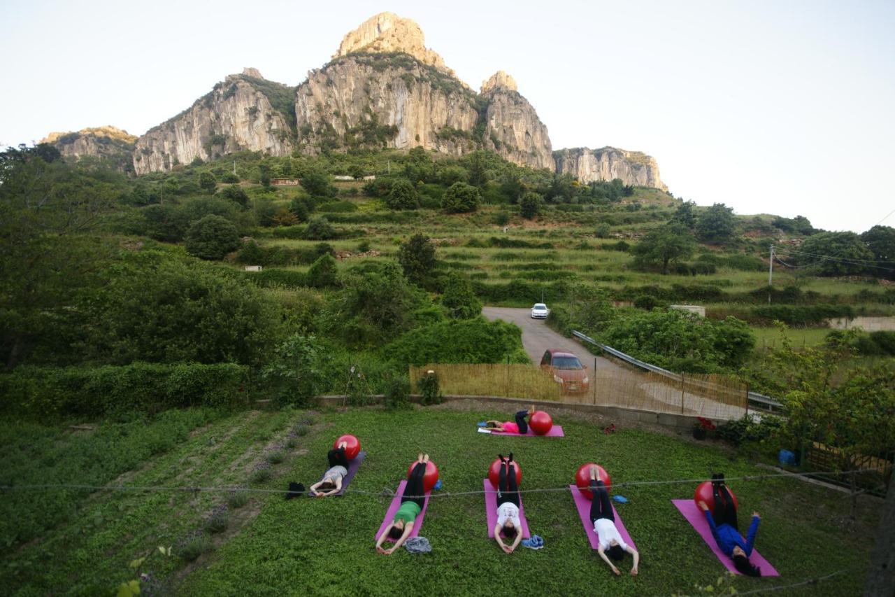
<path fill-rule="evenodd" d="M 356 52 L 404 52 L 423 64 L 452 72 L 437 52 L 426 48 L 420 26 L 395 13 L 379 13 L 362 22 L 345 35 L 333 58 Z"/>

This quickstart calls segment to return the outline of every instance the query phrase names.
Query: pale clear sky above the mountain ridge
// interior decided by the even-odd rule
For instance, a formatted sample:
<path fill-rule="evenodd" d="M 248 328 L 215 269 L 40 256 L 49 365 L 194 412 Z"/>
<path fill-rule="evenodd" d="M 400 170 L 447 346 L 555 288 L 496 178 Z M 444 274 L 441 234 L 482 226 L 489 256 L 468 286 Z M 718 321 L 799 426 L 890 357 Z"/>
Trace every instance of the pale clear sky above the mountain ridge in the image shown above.
<path fill-rule="evenodd" d="M 244 66 L 298 84 L 384 11 L 475 89 L 511 74 L 554 149 L 644 151 L 700 205 L 895 226 L 891 0 L 0 0 L 0 144 L 142 134 Z"/>

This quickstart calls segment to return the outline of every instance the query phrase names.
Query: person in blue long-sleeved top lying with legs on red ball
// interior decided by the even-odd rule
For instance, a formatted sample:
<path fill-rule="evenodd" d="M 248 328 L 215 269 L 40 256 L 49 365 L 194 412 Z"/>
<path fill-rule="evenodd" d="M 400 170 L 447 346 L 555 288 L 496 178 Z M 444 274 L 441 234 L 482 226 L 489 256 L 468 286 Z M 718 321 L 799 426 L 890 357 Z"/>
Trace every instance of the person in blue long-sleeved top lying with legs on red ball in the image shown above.
<path fill-rule="evenodd" d="M 724 473 L 712 475 L 712 494 L 715 498 L 715 506 L 712 512 L 709 512 L 709 506 L 704 502 L 699 502 L 699 507 L 703 508 L 706 520 L 712 527 L 712 536 L 718 547 L 724 554 L 733 560 L 733 566 L 737 568 L 740 574 L 747 576 L 761 576 L 762 569 L 753 566 L 749 561 L 752 555 L 752 548 L 755 542 L 755 535 L 758 533 L 758 523 L 762 517 L 757 512 L 752 513 L 752 523 L 749 525 L 749 532 L 746 533 L 746 539 L 739 534 L 737 530 L 737 506 L 733 503 L 733 497 L 727 485 L 724 483 Z"/>

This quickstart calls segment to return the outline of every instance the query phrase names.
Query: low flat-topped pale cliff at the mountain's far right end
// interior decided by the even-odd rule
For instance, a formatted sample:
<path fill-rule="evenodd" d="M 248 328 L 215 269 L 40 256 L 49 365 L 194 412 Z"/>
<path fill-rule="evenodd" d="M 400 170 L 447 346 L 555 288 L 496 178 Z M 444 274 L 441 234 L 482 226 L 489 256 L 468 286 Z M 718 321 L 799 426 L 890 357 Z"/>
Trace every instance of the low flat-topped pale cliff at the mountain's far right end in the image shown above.
<path fill-rule="evenodd" d="M 615 147 L 598 150 L 576 147 L 554 151 L 553 158 L 559 174 L 571 174 L 581 182 L 620 178 L 626 185 L 668 190 L 668 186 L 659 177 L 659 164 L 640 151 L 625 151 Z"/>

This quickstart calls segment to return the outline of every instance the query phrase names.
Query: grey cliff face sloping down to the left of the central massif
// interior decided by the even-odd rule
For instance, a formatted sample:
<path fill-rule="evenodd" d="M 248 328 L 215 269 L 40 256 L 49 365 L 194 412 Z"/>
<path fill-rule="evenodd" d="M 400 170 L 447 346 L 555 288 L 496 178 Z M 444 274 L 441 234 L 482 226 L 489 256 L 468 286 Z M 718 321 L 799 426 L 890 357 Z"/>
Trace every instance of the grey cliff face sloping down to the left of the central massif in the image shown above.
<path fill-rule="evenodd" d="M 288 155 L 294 140 L 293 88 L 265 81 L 255 69 L 243 73 L 249 74 L 228 76 L 191 108 L 142 135 L 133 152 L 136 173 L 240 150 Z"/>

